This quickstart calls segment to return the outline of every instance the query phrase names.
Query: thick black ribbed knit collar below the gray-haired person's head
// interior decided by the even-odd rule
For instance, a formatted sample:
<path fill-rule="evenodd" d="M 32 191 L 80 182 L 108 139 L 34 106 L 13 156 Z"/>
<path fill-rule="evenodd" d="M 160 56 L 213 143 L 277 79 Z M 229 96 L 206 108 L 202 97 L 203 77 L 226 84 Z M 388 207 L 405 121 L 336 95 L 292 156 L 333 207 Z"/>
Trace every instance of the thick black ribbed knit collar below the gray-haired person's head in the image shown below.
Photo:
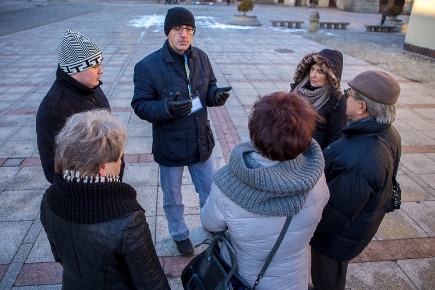
<path fill-rule="evenodd" d="M 136 190 L 123 182 L 68 182 L 56 174 L 45 196 L 57 216 L 76 224 L 99 224 L 145 211 L 136 200 Z"/>

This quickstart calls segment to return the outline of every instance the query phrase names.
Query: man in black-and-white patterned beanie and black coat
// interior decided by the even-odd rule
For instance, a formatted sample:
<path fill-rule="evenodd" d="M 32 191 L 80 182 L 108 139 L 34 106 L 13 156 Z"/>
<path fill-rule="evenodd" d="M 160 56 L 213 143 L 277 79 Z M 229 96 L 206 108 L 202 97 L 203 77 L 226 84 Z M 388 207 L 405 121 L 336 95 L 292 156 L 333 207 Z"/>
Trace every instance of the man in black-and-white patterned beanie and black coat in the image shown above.
<path fill-rule="evenodd" d="M 36 114 L 36 134 L 39 157 L 45 178 L 53 183 L 55 137 L 69 116 L 104 108 L 110 110 L 109 101 L 100 86 L 103 53 L 92 40 L 82 33 L 68 29 L 59 47 L 56 80 L 44 96 Z M 124 160 L 120 179 L 124 173 Z"/>

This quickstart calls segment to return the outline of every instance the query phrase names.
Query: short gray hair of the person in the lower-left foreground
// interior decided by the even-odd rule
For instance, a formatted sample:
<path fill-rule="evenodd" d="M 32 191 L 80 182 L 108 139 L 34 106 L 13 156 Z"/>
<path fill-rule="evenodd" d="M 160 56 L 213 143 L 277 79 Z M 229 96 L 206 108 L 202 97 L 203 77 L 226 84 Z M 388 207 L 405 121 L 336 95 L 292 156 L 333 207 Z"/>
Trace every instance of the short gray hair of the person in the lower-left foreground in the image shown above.
<path fill-rule="evenodd" d="M 127 129 L 108 110 L 74 114 L 56 136 L 55 170 L 95 175 L 101 165 L 118 160 L 126 138 Z"/>

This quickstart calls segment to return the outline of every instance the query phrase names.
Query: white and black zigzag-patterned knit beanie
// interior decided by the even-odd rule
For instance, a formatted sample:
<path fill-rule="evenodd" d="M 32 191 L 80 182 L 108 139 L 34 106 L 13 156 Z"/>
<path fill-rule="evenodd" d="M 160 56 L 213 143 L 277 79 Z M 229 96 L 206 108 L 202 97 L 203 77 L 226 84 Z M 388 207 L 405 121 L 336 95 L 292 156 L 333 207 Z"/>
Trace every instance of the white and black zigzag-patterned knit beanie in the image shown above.
<path fill-rule="evenodd" d="M 103 53 L 95 42 L 74 29 L 65 31 L 59 47 L 59 66 L 68 75 L 84 71 L 102 60 Z"/>

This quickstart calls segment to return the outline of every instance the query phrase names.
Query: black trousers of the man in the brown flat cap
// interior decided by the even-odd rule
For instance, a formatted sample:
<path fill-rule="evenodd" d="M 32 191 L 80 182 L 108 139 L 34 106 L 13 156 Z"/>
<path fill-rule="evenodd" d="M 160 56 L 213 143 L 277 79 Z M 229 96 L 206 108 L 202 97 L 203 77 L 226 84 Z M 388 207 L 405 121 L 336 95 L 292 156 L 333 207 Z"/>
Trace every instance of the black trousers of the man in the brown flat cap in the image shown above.
<path fill-rule="evenodd" d="M 316 290 L 344 290 L 349 261 L 340 262 L 311 247 L 311 280 Z"/>

